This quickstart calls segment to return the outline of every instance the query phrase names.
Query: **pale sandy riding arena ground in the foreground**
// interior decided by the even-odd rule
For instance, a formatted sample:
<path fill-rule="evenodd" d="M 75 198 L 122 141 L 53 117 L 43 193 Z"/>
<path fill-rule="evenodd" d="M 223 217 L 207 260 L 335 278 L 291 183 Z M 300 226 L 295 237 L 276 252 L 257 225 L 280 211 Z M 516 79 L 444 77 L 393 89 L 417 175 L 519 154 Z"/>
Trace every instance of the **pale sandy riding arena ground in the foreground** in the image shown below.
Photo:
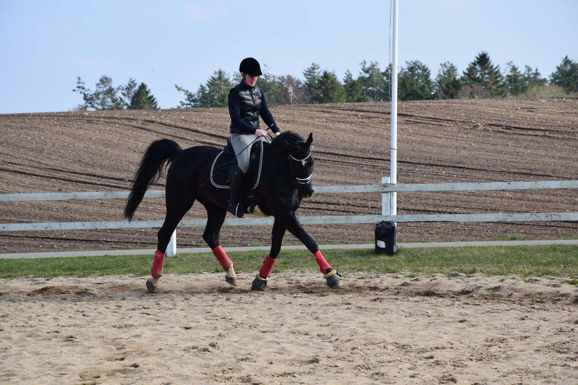
<path fill-rule="evenodd" d="M 0 280 L 0 382 L 576 384 L 566 279 L 223 274 Z M 528 281 L 528 280 L 526 280 Z"/>

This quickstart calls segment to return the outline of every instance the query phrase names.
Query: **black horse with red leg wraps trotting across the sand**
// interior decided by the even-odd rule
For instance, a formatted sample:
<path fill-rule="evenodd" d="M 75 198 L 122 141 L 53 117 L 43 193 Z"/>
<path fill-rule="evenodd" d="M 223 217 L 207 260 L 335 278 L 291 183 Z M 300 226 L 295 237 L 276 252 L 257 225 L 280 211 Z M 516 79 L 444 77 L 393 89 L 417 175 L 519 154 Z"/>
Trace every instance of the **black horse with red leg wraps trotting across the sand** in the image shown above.
<path fill-rule="evenodd" d="M 251 289 L 265 290 L 271 269 L 281 250 L 281 241 L 287 230 L 297 237 L 313 253 L 317 264 L 332 288 L 341 285 L 340 275 L 332 270 L 317 243 L 307 234 L 295 216 L 303 197 L 313 194 L 311 185 L 313 175 L 313 156 L 311 144 L 313 134 L 307 140 L 297 133 L 286 131 L 265 143 L 262 149 L 262 169 L 260 182 L 253 188 L 252 194 L 258 207 L 265 215 L 273 215 L 271 251 L 253 280 Z M 221 149 L 210 146 L 197 146 L 181 149 L 169 139 L 154 141 L 140 160 L 124 210 L 125 218 L 132 219 L 136 208 L 149 186 L 160 178 L 166 165 L 172 163 L 166 175 L 166 216 L 158 231 L 157 251 L 154 255 L 151 275 L 147 280 L 147 289 L 154 293 L 162 276 L 162 266 L 166 247 L 176 226 L 192 207 L 195 200 L 201 202 L 207 210 L 207 224 L 203 240 L 207 242 L 217 257 L 223 270 L 227 272 L 225 281 L 237 284 L 235 269 L 223 248 L 219 244 L 219 232 L 227 215 L 229 190 L 217 188 L 208 181 L 211 178 L 213 162 Z M 234 160 L 235 161 L 235 160 Z"/>

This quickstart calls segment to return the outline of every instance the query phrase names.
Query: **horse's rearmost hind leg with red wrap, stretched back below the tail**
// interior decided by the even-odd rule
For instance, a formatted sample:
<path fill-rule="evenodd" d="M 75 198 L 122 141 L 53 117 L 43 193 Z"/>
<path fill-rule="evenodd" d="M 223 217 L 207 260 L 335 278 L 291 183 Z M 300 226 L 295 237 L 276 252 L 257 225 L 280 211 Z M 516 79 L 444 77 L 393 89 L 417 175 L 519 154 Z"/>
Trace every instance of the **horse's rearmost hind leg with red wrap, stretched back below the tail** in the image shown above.
<path fill-rule="evenodd" d="M 171 236 L 180 220 L 191 209 L 194 201 L 194 195 L 189 189 L 182 187 L 169 188 L 167 183 L 165 222 L 157 233 L 157 251 L 154 253 L 153 267 L 150 270 L 150 275 L 153 278 L 149 278 L 146 282 L 150 293 L 154 293 L 157 290 L 158 281 L 162 276 L 162 267 L 165 263 L 166 247 L 171 241 Z"/>

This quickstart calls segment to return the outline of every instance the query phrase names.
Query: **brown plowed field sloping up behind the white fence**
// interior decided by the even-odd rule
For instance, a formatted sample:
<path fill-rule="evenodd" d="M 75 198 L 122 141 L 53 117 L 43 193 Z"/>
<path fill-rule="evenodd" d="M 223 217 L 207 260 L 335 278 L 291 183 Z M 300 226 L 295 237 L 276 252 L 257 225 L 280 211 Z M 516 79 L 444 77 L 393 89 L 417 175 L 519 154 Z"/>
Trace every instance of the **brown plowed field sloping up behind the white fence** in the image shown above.
<path fill-rule="evenodd" d="M 390 104 L 273 107 L 282 130 L 313 132 L 314 186 L 378 184 L 390 174 Z M 398 183 L 578 179 L 578 99 L 449 100 L 399 104 Z M 227 109 L 79 111 L 0 115 L 0 193 L 128 190 L 144 149 L 222 147 Z M 162 189 L 164 180 L 153 189 Z M 298 215 L 380 214 L 380 194 L 316 194 Z M 398 193 L 398 214 L 576 211 L 578 192 Z M 0 203 L 0 222 L 122 220 L 123 200 Z M 135 219 L 164 218 L 146 199 Z M 185 219 L 204 218 L 195 204 Z M 373 240 L 373 225 L 306 226 L 320 244 Z M 0 233 L 0 252 L 154 248 L 155 229 Z M 179 229 L 181 247 L 204 245 Z M 576 237 L 576 222 L 401 223 L 398 241 Z M 223 245 L 268 245 L 271 228 L 224 227 Z M 298 244 L 287 234 L 285 244 Z"/>

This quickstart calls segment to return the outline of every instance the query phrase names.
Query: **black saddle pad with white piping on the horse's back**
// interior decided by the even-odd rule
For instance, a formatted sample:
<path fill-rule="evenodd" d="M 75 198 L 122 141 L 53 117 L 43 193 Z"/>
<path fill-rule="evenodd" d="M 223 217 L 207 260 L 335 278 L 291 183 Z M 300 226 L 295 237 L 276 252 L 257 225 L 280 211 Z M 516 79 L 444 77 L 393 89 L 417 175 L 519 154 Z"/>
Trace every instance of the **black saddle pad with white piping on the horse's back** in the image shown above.
<path fill-rule="evenodd" d="M 249 170 L 244 182 L 245 188 L 254 189 L 259 185 L 262 163 L 263 141 L 260 140 L 251 145 Z M 227 138 L 227 145 L 223 148 L 223 151 L 219 152 L 211 167 L 211 183 L 213 186 L 222 189 L 231 188 L 231 176 L 236 167 L 235 150 L 231 144 L 231 138 Z"/>

